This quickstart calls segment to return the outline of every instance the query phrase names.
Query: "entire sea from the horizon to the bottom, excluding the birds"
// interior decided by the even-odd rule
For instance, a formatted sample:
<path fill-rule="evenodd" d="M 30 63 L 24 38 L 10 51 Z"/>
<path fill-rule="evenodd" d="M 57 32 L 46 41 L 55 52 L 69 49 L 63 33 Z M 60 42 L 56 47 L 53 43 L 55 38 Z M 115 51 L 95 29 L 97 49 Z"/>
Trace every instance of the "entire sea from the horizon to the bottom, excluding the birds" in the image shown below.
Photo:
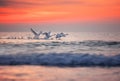
<path fill-rule="evenodd" d="M 64 33 L 0 32 L 0 81 L 120 81 L 120 32 Z"/>

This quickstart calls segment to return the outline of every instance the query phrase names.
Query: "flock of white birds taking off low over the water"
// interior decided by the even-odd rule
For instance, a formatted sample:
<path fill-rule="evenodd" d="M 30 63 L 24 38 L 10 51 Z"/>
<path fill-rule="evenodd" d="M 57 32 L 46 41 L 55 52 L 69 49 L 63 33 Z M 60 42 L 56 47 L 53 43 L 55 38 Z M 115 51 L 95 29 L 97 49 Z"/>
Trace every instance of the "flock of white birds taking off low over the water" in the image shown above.
<path fill-rule="evenodd" d="M 60 40 L 62 37 L 66 37 L 68 34 L 65 34 L 63 32 L 61 33 L 56 33 L 56 34 L 51 34 L 51 32 L 36 32 L 35 30 L 33 30 L 32 28 L 30 29 L 31 32 L 33 33 L 33 37 L 29 36 L 27 37 L 27 39 L 41 39 L 42 36 L 44 36 L 45 40 L 49 40 L 49 39 L 56 39 L 56 40 Z M 54 38 L 53 38 L 54 37 Z M 8 37 L 7 39 L 24 39 L 23 37 Z"/>

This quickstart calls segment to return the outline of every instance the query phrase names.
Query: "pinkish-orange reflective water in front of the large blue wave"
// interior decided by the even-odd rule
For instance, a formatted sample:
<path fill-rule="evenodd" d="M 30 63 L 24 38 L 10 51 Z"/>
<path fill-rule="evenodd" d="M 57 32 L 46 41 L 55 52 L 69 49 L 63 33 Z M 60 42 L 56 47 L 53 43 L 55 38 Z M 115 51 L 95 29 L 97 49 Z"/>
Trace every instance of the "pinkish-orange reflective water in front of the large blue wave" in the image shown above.
<path fill-rule="evenodd" d="M 120 68 L 0 66 L 0 81 L 119 81 Z"/>

